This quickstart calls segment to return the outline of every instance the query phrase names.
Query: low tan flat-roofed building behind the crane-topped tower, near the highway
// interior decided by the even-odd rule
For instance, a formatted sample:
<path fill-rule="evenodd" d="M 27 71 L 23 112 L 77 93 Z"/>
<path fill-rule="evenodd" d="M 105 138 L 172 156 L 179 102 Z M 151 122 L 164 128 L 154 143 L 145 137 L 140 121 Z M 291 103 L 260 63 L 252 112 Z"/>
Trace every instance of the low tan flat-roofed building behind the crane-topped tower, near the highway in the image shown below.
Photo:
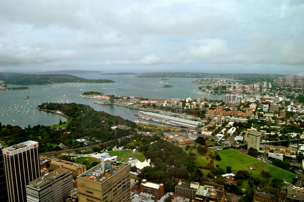
<path fill-rule="evenodd" d="M 50 161 L 50 169 L 56 170 L 58 168 L 67 169 L 67 170 L 73 172 L 73 175 L 80 175 L 81 173 L 84 173 L 85 171 L 87 171 L 87 167 L 85 165 L 68 162 L 68 161 L 63 161 L 58 158 L 53 158 Z"/>

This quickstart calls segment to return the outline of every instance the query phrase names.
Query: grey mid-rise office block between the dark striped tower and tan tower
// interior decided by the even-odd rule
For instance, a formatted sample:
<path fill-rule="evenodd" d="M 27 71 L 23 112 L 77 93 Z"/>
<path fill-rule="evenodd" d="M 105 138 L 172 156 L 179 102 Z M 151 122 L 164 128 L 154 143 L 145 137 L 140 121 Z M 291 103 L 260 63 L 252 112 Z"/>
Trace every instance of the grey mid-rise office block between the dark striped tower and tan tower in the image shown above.
<path fill-rule="evenodd" d="M 73 173 L 58 168 L 45 174 L 26 186 L 27 202 L 65 201 L 73 189 Z"/>

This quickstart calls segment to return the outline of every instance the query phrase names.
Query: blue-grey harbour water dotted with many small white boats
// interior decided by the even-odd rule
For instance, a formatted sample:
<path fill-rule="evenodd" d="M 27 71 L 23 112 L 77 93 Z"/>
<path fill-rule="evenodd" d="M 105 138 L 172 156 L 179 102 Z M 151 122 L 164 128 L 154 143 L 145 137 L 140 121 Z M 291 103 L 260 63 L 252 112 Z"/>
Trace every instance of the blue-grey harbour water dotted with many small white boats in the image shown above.
<path fill-rule="evenodd" d="M 98 91 L 104 94 L 114 94 L 117 96 L 143 96 L 149 98 L 185 99 L 189 95 L 189 97 L 196 99 L 204 97 L 211 99 L 224 99 L 223 94 L 202 93 L 198 89 L 199 86 L 203 86 L 202 84 L 191 83 L 191 81 L 195 80 L 194 78 L 171 78 L 172 80 L 161 80 L 161 78 L 137 78 L 133 75 L 75 74 L 75 76 L 87 79 L 111 79 L 116 83 L 60 83 L 50 85 L 30 85 L 30 89 L 0 91 L 0 122 L 2 125 L 10 124 L 18 125 L 20 127 L 28 127 L 28 125 L 58 124 L 60 118 L 62 122 L 67 120 L 66 117 L 60 114 L 49 112 L 42 113 L 41 110 L 37 110 L 36 106 L 43 102 L 74 102 L 86 104 L 90 105 L 95 110 L 105 111 L 114 116 L 120 116 L 132 121 L 134 115 L 139 111 L 123 106 L 99 105 L 94 103 L 96 99 L 81 98 L 79 96 L 83 92 L 88 91 Z M 174 88 L 161 88 L 163 85 L 174 85 Z M 9 85 L 8 87 L 18 86 L 19 85 Z M 27 95 L 30 97 L 29 99 L 22 99 Z M 151 120 L 144 121 L 160 124 Z"/>

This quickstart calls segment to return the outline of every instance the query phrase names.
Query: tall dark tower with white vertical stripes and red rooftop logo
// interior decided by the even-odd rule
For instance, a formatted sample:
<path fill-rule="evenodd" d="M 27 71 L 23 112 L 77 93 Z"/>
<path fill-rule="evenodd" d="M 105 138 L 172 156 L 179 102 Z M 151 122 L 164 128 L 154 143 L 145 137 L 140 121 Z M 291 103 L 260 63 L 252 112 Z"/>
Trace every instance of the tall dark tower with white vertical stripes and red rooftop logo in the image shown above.
<path fill-rule="evenodd" d="M 26 201 L 26 185 L 40 177 L 38 142 L 26 141 L 2 149 L 9 202 Z"/>

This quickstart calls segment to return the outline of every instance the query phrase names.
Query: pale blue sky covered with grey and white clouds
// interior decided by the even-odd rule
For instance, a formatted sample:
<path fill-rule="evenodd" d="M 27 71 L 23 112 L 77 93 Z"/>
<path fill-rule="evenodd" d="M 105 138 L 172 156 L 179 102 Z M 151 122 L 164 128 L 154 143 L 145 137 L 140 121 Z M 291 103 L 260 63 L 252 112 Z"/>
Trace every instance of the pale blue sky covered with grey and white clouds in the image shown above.
<path fill-rule="evenodd" d="M 0 72 L 304 71 L 304 0 L 0 2 Z"/>

